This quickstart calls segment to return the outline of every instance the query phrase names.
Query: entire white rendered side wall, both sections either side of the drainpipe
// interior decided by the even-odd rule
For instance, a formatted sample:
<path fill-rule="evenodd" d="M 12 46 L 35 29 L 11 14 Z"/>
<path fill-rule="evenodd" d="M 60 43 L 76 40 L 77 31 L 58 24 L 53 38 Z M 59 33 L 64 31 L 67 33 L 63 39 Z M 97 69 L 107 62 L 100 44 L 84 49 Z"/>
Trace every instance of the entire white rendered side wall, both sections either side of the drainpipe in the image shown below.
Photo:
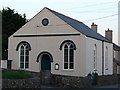
<path fill-rule="evenodd" d="M 94 72 L 94 45 L 97 46 L 97 73 L 102 75 L 102 41 L 86 37 L 86 75 Z M 105 51 L 108 47 L 108 70 L 105 70 Z M 104 75 L 113 74 L 113 44 L 104 42 Z"/>

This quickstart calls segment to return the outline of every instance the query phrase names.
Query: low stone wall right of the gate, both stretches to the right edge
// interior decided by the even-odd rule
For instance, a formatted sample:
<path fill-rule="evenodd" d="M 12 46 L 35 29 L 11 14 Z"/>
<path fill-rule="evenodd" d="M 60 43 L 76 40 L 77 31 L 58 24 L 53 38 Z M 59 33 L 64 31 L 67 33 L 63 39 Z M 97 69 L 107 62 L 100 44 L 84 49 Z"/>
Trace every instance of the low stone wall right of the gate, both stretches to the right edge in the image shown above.
<path fill-rule="evenodd" d="M 98 76 L 96 86 L 118 84 L 120 75 Z M 87 77 L 71 77 L 61 75 L 51 75 L 51 85 L 65 88 L 92 88 L 91 76 Z"/>

